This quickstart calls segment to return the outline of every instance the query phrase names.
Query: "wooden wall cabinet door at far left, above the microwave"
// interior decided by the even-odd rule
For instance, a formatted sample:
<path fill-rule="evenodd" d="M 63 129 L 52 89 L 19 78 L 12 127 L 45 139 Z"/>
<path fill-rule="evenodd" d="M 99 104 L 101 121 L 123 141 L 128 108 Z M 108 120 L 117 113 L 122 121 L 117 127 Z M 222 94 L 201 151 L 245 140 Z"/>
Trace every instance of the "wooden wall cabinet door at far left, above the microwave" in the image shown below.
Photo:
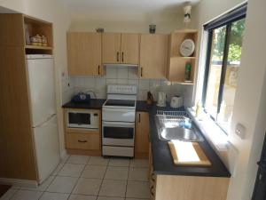
<path fill-rule="evenodd" d="M 68 33 L 68 73 L 72 76 L 101 74 L 101 34 Z"/>

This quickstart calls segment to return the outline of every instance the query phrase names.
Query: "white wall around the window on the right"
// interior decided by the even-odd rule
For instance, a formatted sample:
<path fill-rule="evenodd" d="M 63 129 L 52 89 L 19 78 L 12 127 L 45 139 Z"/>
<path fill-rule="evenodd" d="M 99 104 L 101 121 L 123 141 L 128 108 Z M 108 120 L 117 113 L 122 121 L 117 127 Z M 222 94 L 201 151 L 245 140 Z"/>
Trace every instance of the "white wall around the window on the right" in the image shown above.
<path fill-rule="evenodd" d="M 202 0 L 196 8 L 197 17 L 194 24 L 198 24 L 201 30 L 204 23 L 241 2 L 240 0 Z M 231 157 L 232 148 L 237 149 L 236 159 L 229 160 L 232 177 L 228 200 L 251 199 L 257 171 L 256 161 L 261 154 L 266 130 L 266 64 L 264 61 L 266 41 L 263 39 L 266 31 L 265 7 L 264 0 L 251 0 L 247 8 L 238 89 L 231 132 L 229 132 L 229 140 L 233 147 L 227 152 L 228 157 Z M 234 134 L 234 127 L 237 123 L 246 126 L 245 140 L 241 140 Z"/>

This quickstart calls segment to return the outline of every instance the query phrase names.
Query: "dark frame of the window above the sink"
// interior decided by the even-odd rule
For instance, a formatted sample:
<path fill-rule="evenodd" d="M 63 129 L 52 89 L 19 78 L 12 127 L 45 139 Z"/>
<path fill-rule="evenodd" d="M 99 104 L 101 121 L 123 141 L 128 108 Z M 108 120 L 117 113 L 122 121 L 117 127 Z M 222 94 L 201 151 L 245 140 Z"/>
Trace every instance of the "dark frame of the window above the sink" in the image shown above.
<path fill-rule="evenodd" d="M 228 53 L 230 47 L 230 36 L 231 36 L 231 25 L 233 22 L 242 20 L 246 18 L 246 8 L 247 3 L 242 4 L 238 8 L 234 9 L 231 12 L 228 12 L 221 16 L 220 18 L 209 22 L 204 26 L 204 30 L 207 31 L 207 54 L 206 54 L 206 61 L 205 61 L 205 72 L 204 72 L 204 79 L 203 79 L 203 87 L 202 87 L 202 95 L 201 95 L 201 104 L 204 108 L 204 112 L 209 114 L 206 109 L 206 98 L 207 98 L 207 84 L 208 84 L 208 77 L 209 71 L 211 67 L 211 54 L 212 54 L 212 45 L 213 45 L 213 35 L 214 30 L 216 28 L 221 28 L 226 26 L 226 33 L 224 39 L 224 49 L 223 49 L 223 61 L 222 61 L 222 70 L 221 70 L 221 78 L 220 78 L 220 85 L 219 85 L 219 92 L 218 92 L 218 100 L 217 100 L 217 110 L 216 116 L 209 116 L 215 121 L 223 132 L 227 134 L 227 131 L 217 122 L 217 116 L 220 112 L 222 101 L 223 101 L 223 89 L 224 89 L 224 81 L 226 76 L 226 69 L 227 69 L 227 62 L 228 62 Z"/>

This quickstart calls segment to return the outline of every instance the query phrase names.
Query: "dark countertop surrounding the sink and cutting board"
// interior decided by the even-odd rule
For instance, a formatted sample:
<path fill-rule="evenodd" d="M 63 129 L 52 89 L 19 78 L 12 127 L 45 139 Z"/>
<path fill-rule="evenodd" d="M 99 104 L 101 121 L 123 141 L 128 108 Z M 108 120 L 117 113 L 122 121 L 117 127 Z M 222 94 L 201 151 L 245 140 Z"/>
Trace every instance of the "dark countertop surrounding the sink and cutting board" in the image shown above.
<path fill-rule="evenodd" d="M 227 170 L 219 156 L 215 154 L 213 148 L 210 147 L 207 140 L 200 141 L 200 147 L 206 154 L 207 158 L 212 163 L 211 166 L 177 166 L 173 162 L 170 150 L 168 148 L 168 141 L 159 140 L 158 131 L 155 125 L 154 116 L 156 111 L 160 110 L 178 110 L 170 108 L 159 108 L 155 104 L 150 109 L 150 140 L 152 142 L 153 151 L 153 170 L 155 174 L 166 175 L 186 175 L 186 176 L 208 176 L 208 177 L 231 177 L 230 172 Z M 184 110 L 184 108 L 179 109 Z M 200 130 L 198 130 L 200 132 Z"/>

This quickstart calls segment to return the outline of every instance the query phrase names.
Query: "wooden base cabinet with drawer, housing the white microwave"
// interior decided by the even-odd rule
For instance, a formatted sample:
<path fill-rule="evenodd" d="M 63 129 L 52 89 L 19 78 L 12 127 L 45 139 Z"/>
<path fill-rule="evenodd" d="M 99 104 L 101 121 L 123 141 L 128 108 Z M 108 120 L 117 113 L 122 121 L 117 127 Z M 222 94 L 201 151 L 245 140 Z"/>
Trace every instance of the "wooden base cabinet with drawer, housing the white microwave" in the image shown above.
<path fill-rule="evenodd" d="M 101 156 L 101 112 L 100 110 L 93 110 L 98 113 L 98 129 L 82 129 L 82 128 L 68 128 L 67 127 L 67 111 L 77 110 L 72 108 L 64 109 L 65 122 L 65 145 L 68 154 L 81 154 L 88 156 Z M 84 109 L 78 109 L 82 111 Z M 84 110 L 88 111 L 88 109 Z"/>

